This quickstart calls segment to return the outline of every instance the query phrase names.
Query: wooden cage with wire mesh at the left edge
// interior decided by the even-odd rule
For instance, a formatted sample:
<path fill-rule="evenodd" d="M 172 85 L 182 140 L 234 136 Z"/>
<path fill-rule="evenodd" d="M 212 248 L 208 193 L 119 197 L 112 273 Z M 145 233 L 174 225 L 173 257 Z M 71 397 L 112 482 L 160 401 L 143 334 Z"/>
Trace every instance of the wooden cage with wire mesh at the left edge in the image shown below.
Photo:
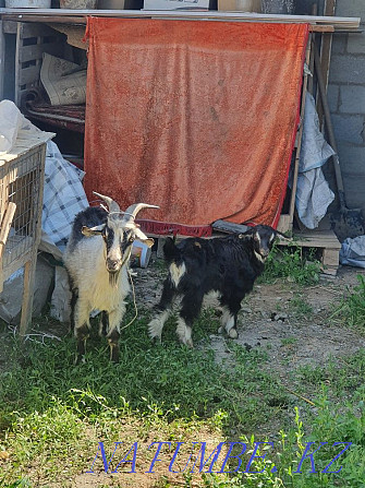
<path fill-rule="evenodd" d="M 32 320 L 37 250 L 40 241 L 46 143 L 22 141 L 0 156 L 0 291 L 24 266 L 20 334 Z"/>

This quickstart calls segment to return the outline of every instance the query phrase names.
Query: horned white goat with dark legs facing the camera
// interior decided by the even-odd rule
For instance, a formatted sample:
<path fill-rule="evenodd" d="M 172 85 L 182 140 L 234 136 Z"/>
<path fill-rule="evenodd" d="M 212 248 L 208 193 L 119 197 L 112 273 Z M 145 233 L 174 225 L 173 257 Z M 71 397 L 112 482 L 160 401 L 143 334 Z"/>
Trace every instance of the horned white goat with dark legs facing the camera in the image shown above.
<path fill-rule="evenodd" d="M 85 355 L 89 316 L 96 309 L 102 311 L 100 334 L 105 329 L 110 358 L 118 361 L 124 298 L 131 289 L 129 261 L 132 245 L 135 239 L 148 246 L 154 243 L 134 219 L 142 209 L 158 209 L 156 205 L 136 203 L 122 212 L 109 197 L 94 193 L 107 203 L 109 212 L 101 207 L 80 212 L 63 258 L 72 294 L 71 326 L 77 340 L 76 362 Z"/>

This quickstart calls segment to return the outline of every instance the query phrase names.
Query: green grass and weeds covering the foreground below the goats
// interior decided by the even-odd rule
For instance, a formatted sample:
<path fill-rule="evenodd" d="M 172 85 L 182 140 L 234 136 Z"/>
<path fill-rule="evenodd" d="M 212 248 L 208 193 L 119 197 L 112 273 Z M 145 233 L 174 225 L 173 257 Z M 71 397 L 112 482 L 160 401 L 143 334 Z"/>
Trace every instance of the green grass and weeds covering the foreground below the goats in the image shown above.
<path fill-rule="evenodd" d="M 356 299 L 350 296 L 351 305 L 343 309 L 346 313 L 354 302 L 357 307 L 362 284 L 354 290 Z M 303 317 L 311 312 L 301 295 L 294 296 L 292 307 Z M 125 321 L 132 316 L 130 310 Z M 198 476 L 186 469 L 171 475 L 168 464 L 160 463 L 158 479 L 145 475 L 143 483 L 149 485 L 137 478 L 133 485 L 132 475 L 120 474 L 114 478 L 106 475 L 95 486 L 364 487 L 364 350 L 293 369 L 282 378 L 263 348 L 248 352 L 228 342 L 226 362 L 216 362 L 209 347 L 209 334 L 218 324 L 212 310 L 205 311 L 194 328 L 195 349 L 178 344 L 172 319 L 162 344 L 154 346 L 146 333 L 148 320 L 149 313 L 139 310 L 138 319 L 123 331 L 119 365 L 109 362 L 106 342 L 94 335 L 86 362 L 74 366 L 75 341 L 71 336 L 23 347 L 10 334 L 2 334 L 0 352 L 7 361 L 1 362 L 0 370 L 1 487 L 76 486 L 70 479 L 90 468 L 100 441 L 108 456 L 117 441 L 123 441 L 125 449 L 138 442 L 143 472 L 154 456 L 147 449 L 151 442 L 192 445 L 205 440 L 209 445 L 220 441 L 246 443 L 243 469 L 255 442 L 272 441 L 275 447 L 267 450 L 265 462 L 257 457 L 253 463 L 252 471 L 265 468 L 258 474 Z M 48 325 L 48 318 L 41 322 Z M 294 336 L 282 340 L 282 345 L 293 344 Z M 303 473 L 295 474 L 309 441 L 316 447 L 328 442 L 314 456 L 318 473 L 311 473 L 307 460 Z M 353 444 L 332 466 L 337 471 L 342 465 L 341 473 L 320 473 L 339 452 L 333 442 Z M 2 460 L 2 452 L 9 460 Z M 214 472 L 220 471 L 221 461 L 219 457 Z M 97 467 L 102 467 L 100 460 Z M 234 472 L 236 460 L 232 459 L 228 467 Z"/>

